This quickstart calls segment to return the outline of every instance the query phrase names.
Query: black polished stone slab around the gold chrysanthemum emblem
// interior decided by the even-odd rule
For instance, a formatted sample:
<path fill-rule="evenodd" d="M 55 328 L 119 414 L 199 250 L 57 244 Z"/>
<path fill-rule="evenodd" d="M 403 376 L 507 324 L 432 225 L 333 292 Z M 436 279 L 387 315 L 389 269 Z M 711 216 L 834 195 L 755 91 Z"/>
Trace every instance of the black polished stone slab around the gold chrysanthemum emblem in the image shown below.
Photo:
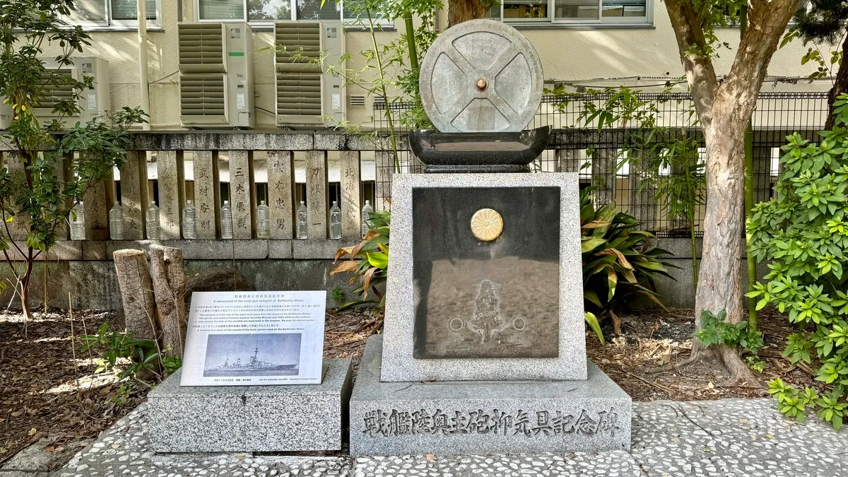
<path fill-rule="evenodd" d="M 415 358 L 559 356 L 560 188 L 413 188 L 412 222 Z"/>

